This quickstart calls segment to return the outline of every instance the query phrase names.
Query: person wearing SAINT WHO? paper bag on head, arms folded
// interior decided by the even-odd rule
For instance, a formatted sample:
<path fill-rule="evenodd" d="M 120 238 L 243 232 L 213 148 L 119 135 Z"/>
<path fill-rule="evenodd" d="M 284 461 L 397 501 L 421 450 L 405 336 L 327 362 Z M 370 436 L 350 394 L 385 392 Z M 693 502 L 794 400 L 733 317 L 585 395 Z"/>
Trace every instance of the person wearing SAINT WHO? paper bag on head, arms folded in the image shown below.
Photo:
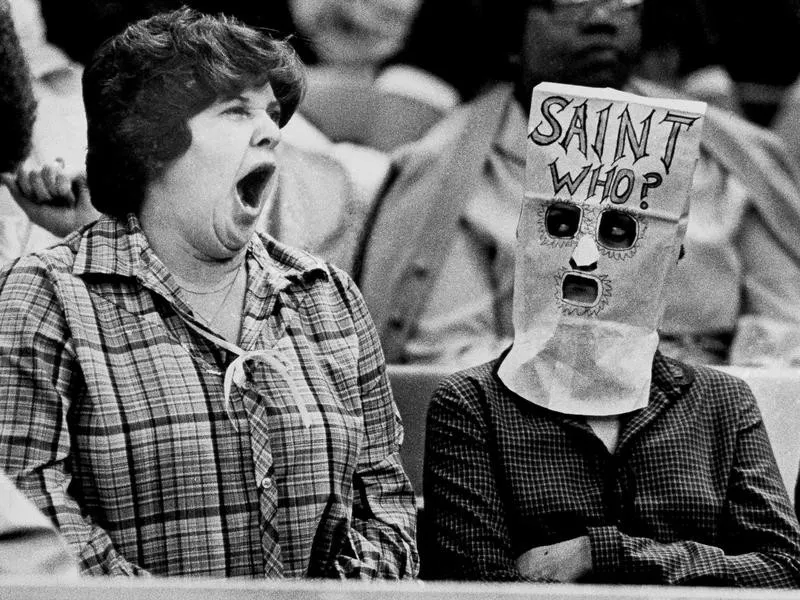
<path fill-rule="evenodd" d="M 428 414 L 428 575 L 800 585 L 753 394 L 657 350 L 705 105 L 542 84 L 531 106 L 513 346 Z"/>

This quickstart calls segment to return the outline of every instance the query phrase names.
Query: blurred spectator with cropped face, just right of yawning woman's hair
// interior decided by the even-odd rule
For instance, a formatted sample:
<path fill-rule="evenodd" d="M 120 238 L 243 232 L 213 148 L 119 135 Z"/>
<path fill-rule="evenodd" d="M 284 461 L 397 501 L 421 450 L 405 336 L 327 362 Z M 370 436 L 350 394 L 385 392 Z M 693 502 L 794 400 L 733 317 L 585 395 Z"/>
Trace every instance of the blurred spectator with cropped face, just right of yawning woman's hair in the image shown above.
<path fill-rule="evenodd" d="M 295 43 L 311 65 L 301 112 L 331 140 L 390 151 L 459 102 L 452 86 L 398 62 L 425 2 L 287 0 Z"/>

